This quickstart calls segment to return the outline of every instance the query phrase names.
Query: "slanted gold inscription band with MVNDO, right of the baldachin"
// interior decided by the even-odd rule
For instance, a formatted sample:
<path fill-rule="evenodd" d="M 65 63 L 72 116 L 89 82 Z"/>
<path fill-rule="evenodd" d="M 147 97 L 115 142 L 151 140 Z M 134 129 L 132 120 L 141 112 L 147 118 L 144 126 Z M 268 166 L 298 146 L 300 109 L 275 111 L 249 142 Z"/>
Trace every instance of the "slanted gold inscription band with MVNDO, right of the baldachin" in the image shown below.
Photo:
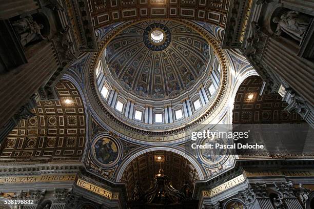
<path fill-rule="evenodd" d="M 216 186 L 211 190 L 202 191 L 203 197 L 213 197 L 215 195 L 222 193 L 223 191 L 229 190 L 232 187 L 243 183 L 244 181 L 245 181 L 245 177 L 243 176 L 243 174 L 241 174 L 240 176 L 237 176 L 219 186 Z"/>

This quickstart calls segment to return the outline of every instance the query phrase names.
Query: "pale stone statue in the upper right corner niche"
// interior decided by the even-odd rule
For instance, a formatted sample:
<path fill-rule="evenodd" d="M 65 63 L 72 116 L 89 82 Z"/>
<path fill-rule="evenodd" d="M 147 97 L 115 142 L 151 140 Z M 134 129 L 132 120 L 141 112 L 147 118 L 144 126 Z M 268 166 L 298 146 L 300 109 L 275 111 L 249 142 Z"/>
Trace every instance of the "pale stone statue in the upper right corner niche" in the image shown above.
<path fill-rule="evenodd" d="M 284 32 L 300 42 L 310 21 L 308 16 L 293 10 L 272 19 L 277 24 L 276 35 L 280 36 Z"/>

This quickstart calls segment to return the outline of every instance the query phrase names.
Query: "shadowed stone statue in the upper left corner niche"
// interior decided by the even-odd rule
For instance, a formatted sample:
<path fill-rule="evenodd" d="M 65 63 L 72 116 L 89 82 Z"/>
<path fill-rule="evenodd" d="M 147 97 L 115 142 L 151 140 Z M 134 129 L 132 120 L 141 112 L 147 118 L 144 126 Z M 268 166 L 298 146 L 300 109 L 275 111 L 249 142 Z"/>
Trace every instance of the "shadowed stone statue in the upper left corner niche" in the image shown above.
<path fill-rule="evenodd" d="M 43 24 L 37 24 L 30 15 L 16 20 L 12 26 L 21 38 L 23 46 L 35 40 L 46 40 L 41 34 L 41 29 L 44 28 Z"/>

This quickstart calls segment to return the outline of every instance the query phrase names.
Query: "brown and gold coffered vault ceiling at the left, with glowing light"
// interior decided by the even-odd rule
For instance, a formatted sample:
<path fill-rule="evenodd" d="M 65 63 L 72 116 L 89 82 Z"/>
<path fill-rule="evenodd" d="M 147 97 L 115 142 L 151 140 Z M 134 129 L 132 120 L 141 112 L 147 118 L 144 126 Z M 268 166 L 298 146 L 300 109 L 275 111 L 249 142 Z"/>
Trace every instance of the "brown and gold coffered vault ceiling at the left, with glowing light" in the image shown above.
<path fill-rule="evenodd" d="M 0 162 L 80 162 L 86 124 L 80 93 L 67 80 L 55 87 L 59 100 L 38 101 L 34 117 L 19 122 L 1 145 Z"/>

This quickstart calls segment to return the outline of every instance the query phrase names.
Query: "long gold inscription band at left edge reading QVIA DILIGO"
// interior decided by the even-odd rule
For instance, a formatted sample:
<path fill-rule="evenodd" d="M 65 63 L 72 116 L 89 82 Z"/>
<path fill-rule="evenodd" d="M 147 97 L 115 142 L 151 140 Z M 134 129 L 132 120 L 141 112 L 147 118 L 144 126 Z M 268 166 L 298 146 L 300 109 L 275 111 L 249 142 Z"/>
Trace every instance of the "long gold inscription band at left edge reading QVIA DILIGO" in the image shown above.
<path fill-rule="evenodd" d="M 27 176 L 27 177 L 0 177 L 0 184 L 8 183 L 33 183 L 51 181 L 74 181 L 76 175 L 53 175 L 53 176 Z"/>

